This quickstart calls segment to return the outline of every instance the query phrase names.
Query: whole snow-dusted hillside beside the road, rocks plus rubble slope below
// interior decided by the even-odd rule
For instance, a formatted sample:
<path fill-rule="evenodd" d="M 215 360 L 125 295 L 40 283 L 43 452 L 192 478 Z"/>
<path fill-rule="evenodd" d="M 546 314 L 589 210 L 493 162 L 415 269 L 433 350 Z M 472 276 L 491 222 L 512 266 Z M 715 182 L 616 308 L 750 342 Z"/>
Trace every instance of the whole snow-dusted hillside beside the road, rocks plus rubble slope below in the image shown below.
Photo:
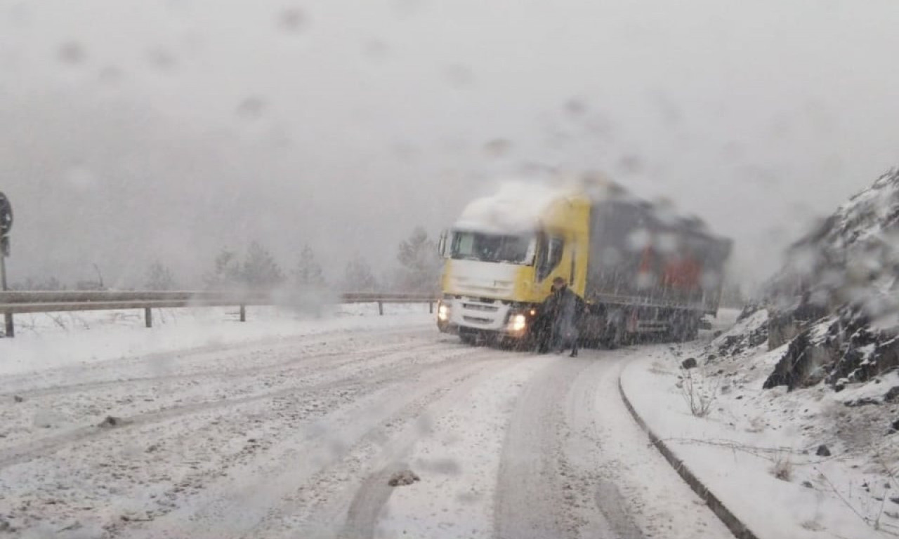
<path fill-rule="evenodd" d="M 795 243 L 765 305 L 700 362 L 740 390 L 739 400 L 722 392 L 721 409 L 796 451 L 779 478 L 837 499 L 872 534 L 899 533 L 897 276 L 899 170 Z"/>

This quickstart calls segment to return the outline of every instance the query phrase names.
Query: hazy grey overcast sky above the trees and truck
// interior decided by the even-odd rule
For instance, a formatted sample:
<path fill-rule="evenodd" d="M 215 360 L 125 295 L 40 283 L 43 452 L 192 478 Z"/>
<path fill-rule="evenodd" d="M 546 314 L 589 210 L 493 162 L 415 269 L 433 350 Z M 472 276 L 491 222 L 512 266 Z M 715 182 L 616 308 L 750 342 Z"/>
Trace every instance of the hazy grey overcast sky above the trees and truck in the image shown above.
<path fill-rule="evenodd" d="M 899 2 L 0 0 L 13 280 L 378 269 L 497 178 L 599 169 L 781 249 L 899 163 Z M 334 278 L 337 280 L 337 278 Z"/>

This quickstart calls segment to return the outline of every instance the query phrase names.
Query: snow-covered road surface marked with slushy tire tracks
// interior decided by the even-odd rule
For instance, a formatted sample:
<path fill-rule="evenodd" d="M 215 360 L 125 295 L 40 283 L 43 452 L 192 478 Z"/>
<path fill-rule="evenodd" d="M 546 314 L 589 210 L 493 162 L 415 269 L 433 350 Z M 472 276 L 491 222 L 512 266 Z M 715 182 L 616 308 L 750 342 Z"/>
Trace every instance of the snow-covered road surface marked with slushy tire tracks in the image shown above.
<path fill-rule="evenodd" d="M 422 315 L 2 376 L 0 517 L 24 537 L 727 537 L 621 402 L 645 351 L 469 348 Z"/>

